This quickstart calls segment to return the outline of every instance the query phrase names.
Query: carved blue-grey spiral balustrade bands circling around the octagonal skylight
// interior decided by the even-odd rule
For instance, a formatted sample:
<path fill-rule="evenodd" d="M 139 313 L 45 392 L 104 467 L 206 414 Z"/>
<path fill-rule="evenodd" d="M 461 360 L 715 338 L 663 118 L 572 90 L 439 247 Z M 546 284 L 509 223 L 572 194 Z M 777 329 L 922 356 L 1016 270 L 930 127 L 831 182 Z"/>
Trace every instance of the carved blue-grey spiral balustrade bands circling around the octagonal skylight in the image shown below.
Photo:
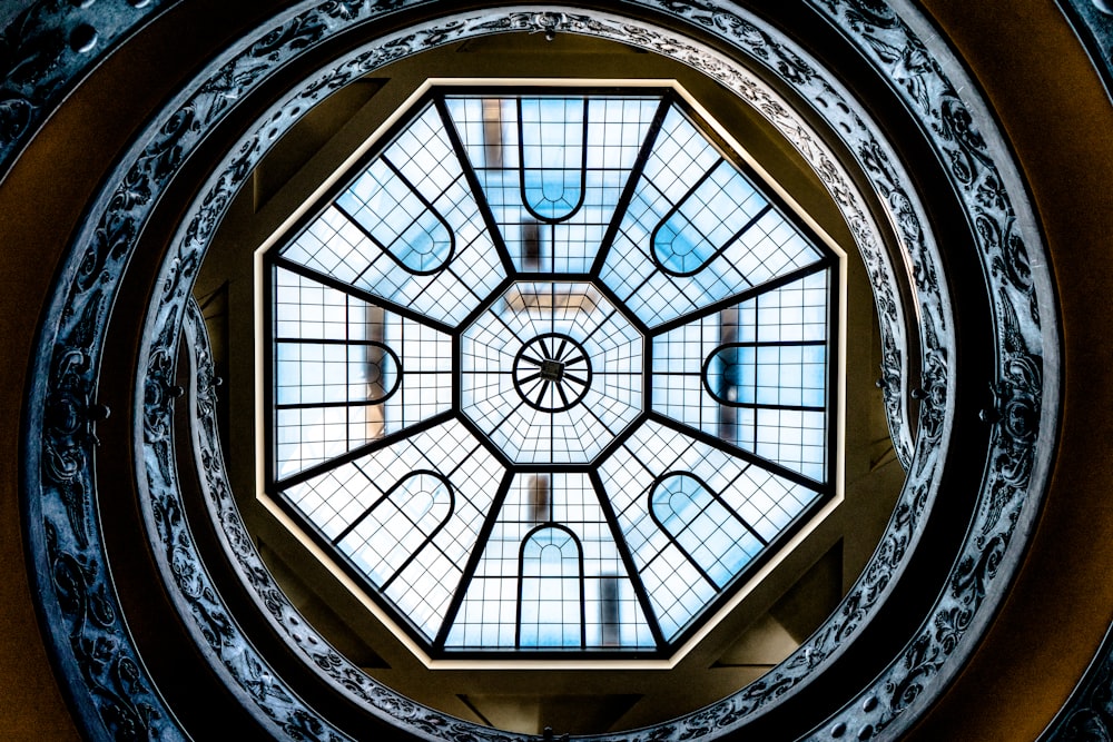
<path fill-rule="evenodd" d="M 204 137 L 277 70 L 311 50 L 324 49 L 345 31 L 365 27 L 373 40 L 347 52 L 295 86 L 249 128 L 239 144 L 215 165 L 189 208 L 170 254 L 162 263 L 148 316 L 138 399 L 137 449 L 145 479 L 139 483 L 148 536 L 181 620 L 214 670 L 237 698 L 252 708 L 264 729 L 289 739 L 343 739 L 328 720 L 305 705 L 269 667 L 266 657 L 243 636 L 234 616 L 206 575 L 204 558 L 189 536 L 188 523 L 175 504 L 177 495 L 170 425 L 179 389 L 171 359 L 188 313 L 193 279 L 208 240 L 237 187 L 284 131 L 313 102 L 358 76 L 423 49 L 498 32 L 582 33 L 622 41 L 664 53 L 699 69 L 733 90 L 781 130 L 819 177 L 843 210 L 866 260 L 883 317 L 883 378 L 907 384 L 907 333 L 896 276 L 910 277 L 915 314 L 919 317 L 920 418 L 912 433 L 903 399 L 890 394 L 887 412 L 897 451 L 909 464 L 909 477 L 881 545 L 836 613 L 786 662 L 760 681 L 702 711 L 650 730 L 601 740 L 671 740 L 726 736 L 743 730 L 765 710 L 776 706 L 825 672 L 851 644 L 883 605 L 899 577 L 937 495 L 942 463 L 948 453 L 957 383 L 946 276 L 939 247 L 928 228 L 924 207 L 907 188 L 904 171 L 884 132 L 864 107 L 806 53 L 774 28 L 730 3 L 647 0 L 627 3 L 647 8 L 673 21 L 667 30 L 643 20 L 603 12 L 548 8 L 501 8 L 423 22 L 387 36 L 374 33 L 375 21 L 422 2 L 329 1 L 302 3 L 242 40 L 219 62 L 195 80 L 140 135 L 120 161 L 116 176 L 90 211 L 61 271 L 42 328 L 36 373 L 45 379 L 32 393 L 24 462 L 29 541 L 41 558 L 35 564 L 41 610 L 53 631 L 58 662 L 82 723 L 90 736 L 177 739 L 185 732 L 158 698 L 124 626 L 118 601 L 107 577 L 108 561 L 96 518 L 97 477 L 91 455 L 99 355 L 112 299 L 158 196 L 173 182 Z M 987 303 L 993 307 L 997 347 L 993 380 L 994 405 L 984 481 L 969 483 L 977 498 L 969 537 L 962 544 L 945 590 L 923 620 L 913 642 L 892 659 L 883 675 L 856 695 L 836 718 L 814 732 L 816 739 L 892 738 L 915 720 L 942 692 L 976 643 L 1004 594 L 1023 537 L 1038 506 L 1057 415 L 1057 378 L 1045 364 L 1058 353 L 1046 261 L 1023 188 L 1002 170 L 1007 149 L 993 122 L 967 105 L 975 93 L 956 85 L 949 51 L 938 40 L 930 46 L 902 16 L 880 3 L 817 0 L 826 16 L 877 70 L 892 80 L 939 160 L 947 164 L 954 199 L 968 215 L 973 241 L 979 248 Z M 907 12 L 907 11 L 906 11 Z M 728 56 L 697 39 L 711 38 Z M 940 59 L 946 63 L 940 63 Z M 905 265 L 888 265 L 877 227 L 845 166 L 820 136 L 794 113 L 780 96 L 748 67 L 779 79 L 814 115 L 825 120 L 886 208 L 900 243 Z M 957 91 L 962 89 L 961 96 Z M 973 111 L 973 112 L 972 112 Z M 1037 259 L 1038 258 L 1038 259 Z M 189 326 L 186 324 L 185 326 Z M 197 343 L 195 348 L 201 348 Z M 196 353 L 196 350 L 195 350 Z M 201 352 L 203 353 L 203 352 Z M 446 740 L 509 740 L 414 704 L 383 687 L 326 645 L 305 625 L 262 568 L 258 554 L 243 532 L 229 493 L 221 484 L 221 464 L 210 421 L 207 366 L 197 366 L 195 414 L 200 437 L 195 453 L 209 504 L 225 548 L 239 565 L 242 580 L 257 596 L 259 609 L 284 633 L 304 661 L 334 684 L 337 692 L 392 720 L 400 730 Z M 206 407 L 208 405 L 208 407 Z M 208 422 L 206 423 L 206 419 Z M 915 438 L 915 447 L 913 441 Z"/>

